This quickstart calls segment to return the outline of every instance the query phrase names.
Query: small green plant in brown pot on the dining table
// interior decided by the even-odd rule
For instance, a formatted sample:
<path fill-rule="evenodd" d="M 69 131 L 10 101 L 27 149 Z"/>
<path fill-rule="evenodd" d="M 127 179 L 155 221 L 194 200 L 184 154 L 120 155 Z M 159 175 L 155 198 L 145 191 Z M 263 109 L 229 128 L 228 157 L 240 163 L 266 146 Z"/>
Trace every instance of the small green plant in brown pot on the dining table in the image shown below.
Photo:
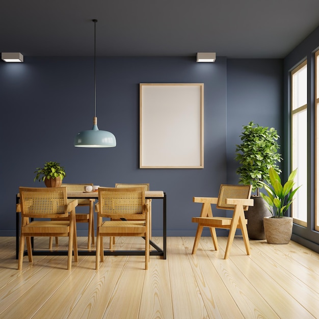
<path fill-rule="evenodd" d="M 60 187 L 65 177 L 64 167 L 57 162 L 46 162 L 44 167 L 37 167 L 34 181 L 44 181 L 46 187 Z"/>

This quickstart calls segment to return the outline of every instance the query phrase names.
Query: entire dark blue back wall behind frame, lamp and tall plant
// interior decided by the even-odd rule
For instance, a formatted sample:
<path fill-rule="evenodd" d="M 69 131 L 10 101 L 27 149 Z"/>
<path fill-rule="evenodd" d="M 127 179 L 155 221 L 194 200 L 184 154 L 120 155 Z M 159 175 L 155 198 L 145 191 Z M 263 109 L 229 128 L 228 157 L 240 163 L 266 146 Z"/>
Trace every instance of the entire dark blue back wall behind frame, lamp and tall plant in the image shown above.
<path fill-rule="evenodd" d="M 204 169 L 139 169 L 139 83 L 204 83 Z M 113 132 L 117 146 L 75 148 L 77 132 L 92 127 L 93 84 L 93 58 L 0 63 L 0 235 L 15 234 L 18 187 L 44 186 L 33 182 L 35 168 L 57 161 L 64 182 L 149 182 L 167 193 L 168 235 L 194 236 L 200 204 L 193 196 L 216 196 L 221 183 L 238 181 L 242 126 L 254 120 L 282 131 L 282 60 L 97 58 L 98 126 Z M 154 200 L 153 235 L 162 234 L 161 209 Z"/>

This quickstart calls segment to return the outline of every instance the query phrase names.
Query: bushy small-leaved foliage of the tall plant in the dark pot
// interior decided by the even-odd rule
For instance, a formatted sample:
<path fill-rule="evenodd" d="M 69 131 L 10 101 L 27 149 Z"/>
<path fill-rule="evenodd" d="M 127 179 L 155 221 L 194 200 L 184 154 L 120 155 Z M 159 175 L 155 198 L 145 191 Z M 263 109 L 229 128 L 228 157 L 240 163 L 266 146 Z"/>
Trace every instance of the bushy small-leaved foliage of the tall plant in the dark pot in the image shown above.
<path fill-rule="evenodd" d="M 267 126 L 259 126 L 253 121 L 243 126 L 240 136 L 242 143 L 236 145 L 236 161 L 241 166 L 236 173 L 240 175 L 240 183 L 252 185 L 252 191 L 263 187 L 263 181 L 270 182 L 269 169 L 274 168 L 278 173 L 281 172 L 277 163 L 281 161 L 281 154 L 277 151 L 279 145 L 277 140 L 279 135 L 274 127 L 268 129 Z"/>

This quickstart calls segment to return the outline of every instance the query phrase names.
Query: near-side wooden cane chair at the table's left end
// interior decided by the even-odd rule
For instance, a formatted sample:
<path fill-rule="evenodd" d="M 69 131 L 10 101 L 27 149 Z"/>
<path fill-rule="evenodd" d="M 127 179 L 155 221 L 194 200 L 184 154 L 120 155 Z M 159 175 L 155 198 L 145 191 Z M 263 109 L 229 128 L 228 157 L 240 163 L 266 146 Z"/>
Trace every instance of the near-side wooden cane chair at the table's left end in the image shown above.
<path fill-rule="evenodd" d="M 21 234 L 19 246 L 18 269 L 22 269 L 24 239 L 28 248 L 29 261 L 32 262 L 32 236 L 67 236 L 68 269 L 72 264 L 72 247 L 74 261 L 77 262 L 77 243 L 75 227 L 75 207 L 77 200 L 67 202 L 66 188 L 19 188 L 20 204 L 17 209 L 21 211 Z M 29 221 L 35 218 L 36 221 Z M 38 220 L 38 219 L 56 220 Z M 61 220 L 59 220 L 61 218 Z M 67 220 L 62 220 L 66 218 Z"/>

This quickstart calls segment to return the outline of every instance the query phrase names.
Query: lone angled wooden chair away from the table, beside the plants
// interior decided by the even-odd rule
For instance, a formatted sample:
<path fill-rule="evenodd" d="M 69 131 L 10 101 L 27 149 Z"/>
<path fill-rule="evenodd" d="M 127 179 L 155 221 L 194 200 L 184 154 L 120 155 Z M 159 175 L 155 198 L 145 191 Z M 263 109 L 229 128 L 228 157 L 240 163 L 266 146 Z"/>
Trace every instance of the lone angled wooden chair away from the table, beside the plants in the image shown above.
<path fill-rule="evenodd" d="M 244 210 L 248 206 L 253 206 L 254 201 L 250 199 L 251 185 L 221 185 L 218 198 L 213 197 L 194 197 L 193 202 L 202 203 L 200 217 L 193 217 L 192 222 L 198 223 L 195 242 L 192 254 L 195 254 L 199 244 L 203 227 L 209 227 L 212 242 L 215 250 L 218 250 L 218 242 L 215 228 L 229 229 L 227 247 L 224 259 L 227 259 L 230 247 L 234 240 L 237 228 L 242 230 L 243 239 L 246 247 L 247 255 L 250 255 L 249 239 L 247 233 L 247 220 L 245 219 Z M 216 204 L 217 208 L 233 210 L 231 218 L 213 217 L 211 204 Z"/>

